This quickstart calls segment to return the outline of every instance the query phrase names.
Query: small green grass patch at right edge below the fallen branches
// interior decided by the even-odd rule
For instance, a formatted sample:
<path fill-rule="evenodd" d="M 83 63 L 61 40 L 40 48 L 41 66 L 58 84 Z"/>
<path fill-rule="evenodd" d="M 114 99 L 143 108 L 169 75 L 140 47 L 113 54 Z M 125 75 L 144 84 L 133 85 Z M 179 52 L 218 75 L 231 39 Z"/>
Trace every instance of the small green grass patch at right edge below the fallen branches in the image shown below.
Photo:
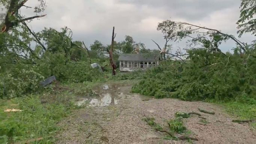
<path fill-rule="evenodd" d="M 244 104 L 241 102 L 223 103 L 226 111 L 239 120 L 256 120 L 256 105 Z M 254 130 L 256 129 L 256 122 L 250 124 Z"/>

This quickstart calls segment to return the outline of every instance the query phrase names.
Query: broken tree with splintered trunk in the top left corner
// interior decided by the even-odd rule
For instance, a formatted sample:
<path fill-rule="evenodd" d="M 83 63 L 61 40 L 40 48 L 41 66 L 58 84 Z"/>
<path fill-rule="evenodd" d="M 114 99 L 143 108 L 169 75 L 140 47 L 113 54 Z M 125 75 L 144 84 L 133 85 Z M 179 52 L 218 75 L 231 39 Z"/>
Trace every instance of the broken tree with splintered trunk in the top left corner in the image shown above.
<path fill-rule="evenodd" d="M 11 1 L 3 1 L 1 2 L 2 5 L 6 6 L 8 9 L 5 15 L 5 20 L 3 24 L 1 24 L 2 28 L 1 31 L 2 33 L 7 33 L 12 27 L 18 26 L 18 24 L 23 23 L 28 20 L 33 20 L 35 18 L 41 18 L 44 17 L 45 15 L 36 15 L 33 17 L 27 17 L 24 18 L 21 16 L 19 13 L 19 10 L 22 6 L 25 6 L 24 4 L 28 0 L 11 0 Z M 44 11 L 45 7 L 45 0 L 38 0 L 40 2 L 39 7 L 35 7 L 35 12 L 39 13 Z M 25 6 L 28 7 L 28 6 Z M 32 7 L 29 7 L 32 8 Z"/>

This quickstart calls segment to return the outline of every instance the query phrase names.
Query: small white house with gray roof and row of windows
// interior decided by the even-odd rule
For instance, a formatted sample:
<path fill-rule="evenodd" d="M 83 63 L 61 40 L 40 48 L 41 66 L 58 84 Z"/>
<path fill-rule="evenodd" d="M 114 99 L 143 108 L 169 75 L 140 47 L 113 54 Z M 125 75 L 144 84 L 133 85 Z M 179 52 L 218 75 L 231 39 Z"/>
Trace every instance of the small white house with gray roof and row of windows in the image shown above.
<path fill-rule="evenodd" d="M 159 65 L 159 54 L 120 54 L 119 68 L 123 72 L 131 72 L 137 69 L 147 69 Z"/>

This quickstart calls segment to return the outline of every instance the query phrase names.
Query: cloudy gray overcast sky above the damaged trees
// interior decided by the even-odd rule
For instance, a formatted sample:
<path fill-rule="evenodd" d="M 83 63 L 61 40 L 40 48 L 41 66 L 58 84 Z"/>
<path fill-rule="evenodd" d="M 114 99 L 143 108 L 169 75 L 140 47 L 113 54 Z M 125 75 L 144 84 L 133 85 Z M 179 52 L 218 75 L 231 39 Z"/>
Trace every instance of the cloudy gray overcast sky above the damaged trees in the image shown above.
<path fill-rule="evenodd" d="M 35 6 L 37 0 L 29 0 L 27 6 Z M 83 40 L 87 46 L 94 40 L 103 44 L 111 43 L 112 27 L 115 26 L 117 41 L 130 35 L 136 42 L 145 43 L 147 48 L 157 48 L 154 39 L 164 45 L 163 35 L 157 31 L 157 24 L 170 19 L 188 22 L 236 34 L 239 19 L 240 0 L 47 0 L 43 14 L 46 17 L 33 20 L 29 26 L 35 31 L 44 27 L 67 26 L 73 31 L 74 40 Z M 32 16 L 32 9 L 21 10 Z M 243 42 L 255 37 L 245 34 Z M 235 46 L 233 41 L 221 45 L 223 51 Z M 185 42 L 173 43 L 173 49 L 184 48 Z"/>

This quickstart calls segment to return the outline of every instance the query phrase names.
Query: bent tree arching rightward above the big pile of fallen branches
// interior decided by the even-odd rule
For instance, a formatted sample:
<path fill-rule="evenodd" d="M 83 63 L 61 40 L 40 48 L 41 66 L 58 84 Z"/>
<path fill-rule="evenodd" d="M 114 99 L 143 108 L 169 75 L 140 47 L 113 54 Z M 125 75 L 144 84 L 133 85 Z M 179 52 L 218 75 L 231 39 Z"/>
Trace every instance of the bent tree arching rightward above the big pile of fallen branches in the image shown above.
<path fill-rule="evenodd" d="M 180 41 L 185 38 L 188 40 L 190 48 L 205 48 L 209 51 L 220 52 L 219 45 L 226 40 L 232 39 L 241 50 L 246 51 L 246 45 L 236 39 L 231 34 L 222 33 L 220 30 L 196 26 L 185 22 L 175 22 L 166 20 L 158 24 L 158 30 L 164 33 L 164 37 L 170 37 L 173 41 Z"/>

